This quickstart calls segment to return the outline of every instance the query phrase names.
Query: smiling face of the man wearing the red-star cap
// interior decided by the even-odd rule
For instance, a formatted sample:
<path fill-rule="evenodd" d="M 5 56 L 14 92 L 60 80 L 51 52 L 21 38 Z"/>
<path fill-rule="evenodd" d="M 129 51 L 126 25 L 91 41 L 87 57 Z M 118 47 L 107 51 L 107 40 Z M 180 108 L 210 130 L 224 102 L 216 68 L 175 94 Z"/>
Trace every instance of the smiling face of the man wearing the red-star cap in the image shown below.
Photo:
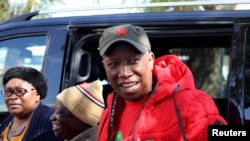
<path fill-rule="evenodd" d="M 124 99 L 138 101 L 152 89 L 154 54 L 140 53 L 127 43 L 115 44 L 103 56 L 111 86 Z"/>

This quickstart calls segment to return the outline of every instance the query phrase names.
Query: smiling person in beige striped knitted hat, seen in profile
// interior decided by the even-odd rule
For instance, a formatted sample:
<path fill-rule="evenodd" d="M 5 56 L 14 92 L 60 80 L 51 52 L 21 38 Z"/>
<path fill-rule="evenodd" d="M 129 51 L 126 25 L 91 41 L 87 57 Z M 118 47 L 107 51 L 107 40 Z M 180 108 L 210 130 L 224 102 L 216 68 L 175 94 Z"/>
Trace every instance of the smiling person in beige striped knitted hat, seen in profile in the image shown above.
<path fill-rule="evenodd" d="M 64 89 L 57 95 L 50 117 L 57 137 L 70 141 L 96 141 L 97 123 L 104 109 L 100 80 Z"/>

